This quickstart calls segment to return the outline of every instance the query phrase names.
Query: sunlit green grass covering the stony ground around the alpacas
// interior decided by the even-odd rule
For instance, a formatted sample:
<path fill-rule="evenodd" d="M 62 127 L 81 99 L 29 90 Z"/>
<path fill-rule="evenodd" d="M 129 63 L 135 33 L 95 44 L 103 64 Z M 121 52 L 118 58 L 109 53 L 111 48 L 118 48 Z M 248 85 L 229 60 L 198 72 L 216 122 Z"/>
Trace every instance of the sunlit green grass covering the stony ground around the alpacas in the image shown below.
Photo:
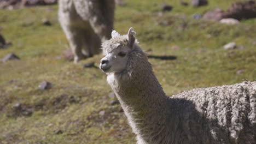
<path fill-rule="evenodd" d="M 173 10 L 158 16 L 162 2 Z M 194 20 L 216 7 L 227 9 L 229 1 L 214 1 L 200 8 L 184 7 L 173 1 L 127 1 L 115 11 L 115 29 L 122 34 L 135 28 L 142 49 L 153 56 L 176 56 L 175 60 L 150 58 L 166 94 L 172 95 L 196 87 L 229 85 L 256 80 L 256 20 L 227 26 L 218 22 Z M 57 6 L 0 10 L 1 33 L 13 45 L 0 50 L 0 58 L 15 52 L 21 60 L 0 62 L 0 143 L 135 143 L 120 105 L 110 105 L 115 98 L 106 75 L 97 68 L 66 61 L 63 50 L 67 40 L 57 21 Z M 53 25 L 43 26 L 46 17 Z M 168 23 L 167 26 L 159 23 Z M 235 41 L 245 49 L 224 50 Z M 178 46 L 178 49 L 173 49 Z M 61 59 L 56 57 L 61 56 Z M 237 70 L 244 72 L 236 74 Z M 9 82 L 14 80 L 13 82 Z M 40 91 L 41 81 L 53 83 Z M 23 112 L 15 110 L 20 103 Z M 105 114 L 100 115 L 104 110 Z M 62 134 L 54 131 L 62 130 Z"/>

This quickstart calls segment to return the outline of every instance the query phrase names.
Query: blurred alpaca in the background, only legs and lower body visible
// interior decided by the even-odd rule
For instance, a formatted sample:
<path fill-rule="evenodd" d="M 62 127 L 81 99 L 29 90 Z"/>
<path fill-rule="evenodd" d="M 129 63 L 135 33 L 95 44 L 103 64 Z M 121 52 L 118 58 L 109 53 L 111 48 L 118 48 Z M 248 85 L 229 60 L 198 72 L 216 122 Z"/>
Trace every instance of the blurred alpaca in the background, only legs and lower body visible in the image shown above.
<path fill-rule="evenodd" d="M 59 22 L 69 41 L 74 63 L 100 53 L 111 38 L 114 0 L 60 0 Z"/>

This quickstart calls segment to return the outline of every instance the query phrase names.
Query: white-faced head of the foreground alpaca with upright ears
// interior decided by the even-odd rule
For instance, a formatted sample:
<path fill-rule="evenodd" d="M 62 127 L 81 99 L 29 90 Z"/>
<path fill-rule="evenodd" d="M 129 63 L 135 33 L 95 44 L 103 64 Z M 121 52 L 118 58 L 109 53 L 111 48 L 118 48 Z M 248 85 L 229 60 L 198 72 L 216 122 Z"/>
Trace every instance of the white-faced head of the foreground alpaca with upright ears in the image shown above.
<path fill-rule="evenodd" d="M 101 59 L 100 69 L 105 73 L 121 73 L 126 69 L 130 53 L 138 49 L 135 46 L 135 31 L 131 27 L 127 35 L 120 35 L 117 31 L 113 31 L 111 35 L 112 39 L 102 44 L 105 57 Z"/>

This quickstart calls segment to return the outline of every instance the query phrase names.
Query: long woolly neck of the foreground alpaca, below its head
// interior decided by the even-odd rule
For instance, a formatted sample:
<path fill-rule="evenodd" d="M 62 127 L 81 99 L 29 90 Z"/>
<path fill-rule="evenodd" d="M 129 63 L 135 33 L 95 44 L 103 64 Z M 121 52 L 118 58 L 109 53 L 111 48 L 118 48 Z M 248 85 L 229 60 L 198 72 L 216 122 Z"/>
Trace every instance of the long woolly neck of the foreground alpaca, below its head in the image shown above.
<path fill-rule="evenodd" d="M 168 97 L 144 52 L 131 54 L 130 61 L 136 63 L 127 64 L 128 69 L 123 74 L 109 74 L 108 82 L 117 94 L 135 134 L 147 137 L 148 134 L 143 131 L 160 133 L 165 127 L 154 125 L 167 121 Z"/>

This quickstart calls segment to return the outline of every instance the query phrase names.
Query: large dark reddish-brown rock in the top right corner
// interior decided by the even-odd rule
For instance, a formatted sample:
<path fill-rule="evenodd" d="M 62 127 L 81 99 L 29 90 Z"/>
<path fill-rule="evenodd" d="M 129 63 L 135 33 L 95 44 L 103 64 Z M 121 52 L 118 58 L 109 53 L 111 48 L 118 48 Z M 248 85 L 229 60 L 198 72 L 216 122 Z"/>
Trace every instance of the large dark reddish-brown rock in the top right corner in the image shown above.
<path fill-rule="evenodd" d="M 236 20 L 251 19 L 256 17 L 256 1 L 234 2 L 226 11 L 224 18 Z"/>

